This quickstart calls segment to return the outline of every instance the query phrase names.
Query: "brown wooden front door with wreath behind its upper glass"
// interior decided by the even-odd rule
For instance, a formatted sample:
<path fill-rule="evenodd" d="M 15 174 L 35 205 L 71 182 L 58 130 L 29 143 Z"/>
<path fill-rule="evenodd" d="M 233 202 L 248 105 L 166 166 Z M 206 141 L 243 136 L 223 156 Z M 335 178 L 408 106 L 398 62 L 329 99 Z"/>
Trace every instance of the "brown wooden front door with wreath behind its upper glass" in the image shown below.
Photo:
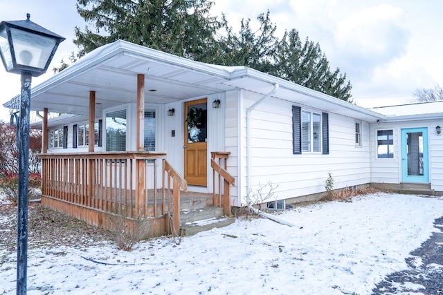
<path fill-rule="evenodd" d="M 207 108 L 208 99 L 185 103 L 185 180 L 190 185 L 207 184 Z"/>

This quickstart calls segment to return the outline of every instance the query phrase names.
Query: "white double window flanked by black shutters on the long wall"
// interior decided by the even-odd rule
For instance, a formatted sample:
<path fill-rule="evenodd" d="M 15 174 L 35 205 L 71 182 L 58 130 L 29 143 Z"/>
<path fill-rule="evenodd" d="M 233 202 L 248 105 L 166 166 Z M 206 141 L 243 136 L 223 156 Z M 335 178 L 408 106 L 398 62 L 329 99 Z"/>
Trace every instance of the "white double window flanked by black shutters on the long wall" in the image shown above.
<path fill-rule="evenodd" d="M 292 107 L 293 154 L 323 152 L 329 154 L 329 115 Z"/>

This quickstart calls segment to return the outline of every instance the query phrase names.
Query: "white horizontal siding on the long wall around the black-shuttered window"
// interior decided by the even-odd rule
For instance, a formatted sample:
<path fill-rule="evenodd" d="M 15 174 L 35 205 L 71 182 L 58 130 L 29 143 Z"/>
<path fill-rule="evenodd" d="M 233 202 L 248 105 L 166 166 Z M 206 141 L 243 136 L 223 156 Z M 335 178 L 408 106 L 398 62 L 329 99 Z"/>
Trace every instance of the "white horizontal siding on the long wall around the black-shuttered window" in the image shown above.
<path fill-rule="evenodd" d="M 260 95 L 246 94 L 245 113 L 247 106 L 261 98 Z M 322 117 L 324 115 L 328 126 L 325 141 L 328 142 L 329 149 L 324 154 L 304 151 L 295 154 L 292 106 L 291 102 L 270 98 L 251 112 L 251 189 L 271 181 L 278 184 L 278 189 L 275 190 L 275 198 L 278 200 L 321 193 L 325 191 L 324 180 L 327 179 L 328 172 L 332 173 L 338 189 L 369 183 L 368 124 L 362 124 L 362 146 L 361 149 L 355 149 L 354 118 L 301 108 L 300 117 L 302 111 Z M 320 130 L 323 134 L 322 126 L 314 128 L 313 120 L 310 126 L 311 136 L 314 136 L 314 130 Z M 243 131 L 246 131 L 246 127 Z M 317 135 L 320 142 L 322 134 Z M 314 151 L 314 144 L 311 144 L 311 150 Z M 242 165 L 244 166 L 240 171 L 246 177 L 246 162 L 242 161 Z M 242 202 L 246 200 L 245 185 L 246 182 L 243 182 Z"/>

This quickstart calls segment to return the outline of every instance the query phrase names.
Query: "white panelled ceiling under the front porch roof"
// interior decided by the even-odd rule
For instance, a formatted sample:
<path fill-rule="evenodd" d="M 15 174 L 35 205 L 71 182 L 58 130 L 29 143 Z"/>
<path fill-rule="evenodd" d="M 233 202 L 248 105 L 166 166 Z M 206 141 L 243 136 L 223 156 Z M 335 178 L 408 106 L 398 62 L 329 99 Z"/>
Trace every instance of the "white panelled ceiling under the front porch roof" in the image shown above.
<path fill-rule="evenodd" d="M 149 54 L 126 49 L 96 62 L 87 56 L 39 84 L 31 94 L 32 110 L 88 115 L 89 92 L 96 91 L 96 116 L 101 116 L 104 107 L 136 102 L 137 74 L 145 75 L 145 103 L 164 104 L 233 89 L 222 84 L 228 79 L 225 70 L 215 68 L 211 73 L 201 70 L 204 64 L 192 62 L 197 64 L 192 68 L 182 60 L 157 59 L 149 48 Z"/>

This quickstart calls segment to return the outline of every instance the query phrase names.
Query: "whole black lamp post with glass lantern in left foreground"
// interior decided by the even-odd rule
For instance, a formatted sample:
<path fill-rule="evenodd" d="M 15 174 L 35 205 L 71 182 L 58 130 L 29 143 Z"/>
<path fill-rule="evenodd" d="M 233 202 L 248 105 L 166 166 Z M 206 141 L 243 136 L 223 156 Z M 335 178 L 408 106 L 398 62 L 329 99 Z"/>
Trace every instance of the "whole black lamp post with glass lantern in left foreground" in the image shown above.
<path fill-rule="evenodd" d="M 17 294 L 26 294 L 28 263 L 28 169 L 30 82 L 46 73 L 55 50 L 64 40 L 37 23 L 2 21 L 0 23 L 0 55 L 8 73 L 21 75 L 20 119 L 17 124 L 19 150 L 19 202 L 17 215 Z"/>

